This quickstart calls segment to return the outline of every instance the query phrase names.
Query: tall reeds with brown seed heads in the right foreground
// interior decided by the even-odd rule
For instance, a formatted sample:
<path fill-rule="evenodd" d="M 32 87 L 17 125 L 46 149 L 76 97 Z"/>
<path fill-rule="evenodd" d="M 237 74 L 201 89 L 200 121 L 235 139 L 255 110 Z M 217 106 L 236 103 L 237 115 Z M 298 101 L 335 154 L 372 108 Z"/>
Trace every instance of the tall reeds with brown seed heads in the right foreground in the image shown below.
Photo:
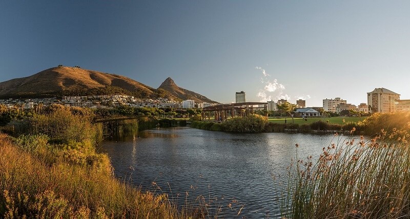
<path fill-rule="evenodd" d="M 410 217 L 410 147 L 406 130 L 382 130 L 371 141 L 363 137 L 342 139 L 335 135 L 317 162 L 312 157 L 296 158 L 283 194 L 282 216 Z"/>

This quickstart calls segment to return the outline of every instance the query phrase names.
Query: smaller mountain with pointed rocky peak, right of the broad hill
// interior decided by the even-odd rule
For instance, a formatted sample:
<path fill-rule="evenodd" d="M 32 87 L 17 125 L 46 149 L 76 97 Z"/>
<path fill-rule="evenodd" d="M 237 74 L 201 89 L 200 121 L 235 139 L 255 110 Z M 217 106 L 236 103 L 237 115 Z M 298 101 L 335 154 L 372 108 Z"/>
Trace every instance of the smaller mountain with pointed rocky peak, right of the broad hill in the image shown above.
<path fill-rule="evenodd" d="M 179 87 L 178 85 L 176 85 L 174 80 L 172 80 L 172 78 L 170 77 L 161 83 L 161 85 L 158 87 L 158 90 L 167 91 L 172 96 L 175 96 L 182 100 L 189 99 L 189 100 L 194 100 L 195 102 L 217 103 L 216 101 L 210 100 L 205 96 L 202 96 L 193 91 L 189 91 L 187 89 L 183 89 L 182 87 Z"/>

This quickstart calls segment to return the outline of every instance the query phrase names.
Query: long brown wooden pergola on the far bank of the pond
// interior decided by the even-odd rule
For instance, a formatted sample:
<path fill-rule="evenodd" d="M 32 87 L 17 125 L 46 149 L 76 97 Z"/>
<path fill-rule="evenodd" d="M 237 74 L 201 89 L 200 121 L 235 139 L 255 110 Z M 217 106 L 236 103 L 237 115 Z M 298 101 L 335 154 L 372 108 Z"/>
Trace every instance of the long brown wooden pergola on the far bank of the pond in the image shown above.
<path fill-rule="evenodd" d="M 267 105 L 268 103 L 263 102 L 244 102 L 207 106 L 202 108 L 201 119 L 207 120 L 208 116 L 208 120 L 211 120 L 211 112 L 214 112 L 215 121 L 224 121 L 229 117 L 244 117 L 254 114 L 255 109 L 264 109 L 265 116 L 268 116 Z"/>

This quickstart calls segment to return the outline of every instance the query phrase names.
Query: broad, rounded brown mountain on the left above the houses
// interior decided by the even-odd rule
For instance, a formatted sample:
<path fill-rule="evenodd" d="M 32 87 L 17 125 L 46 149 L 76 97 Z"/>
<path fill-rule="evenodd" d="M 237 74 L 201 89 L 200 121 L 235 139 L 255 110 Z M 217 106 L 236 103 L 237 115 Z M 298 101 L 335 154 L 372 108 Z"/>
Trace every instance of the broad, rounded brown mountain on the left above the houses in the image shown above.
<path fill-rule="evenodd" d="M 194 92 L 191 93 L 196 94 Z M 173 100 L 182 99 L 165 89 L 154 89 L 131 78 L 78 67 L 59 66 L 41 71 L 29 77 L 0 82 L 0 99 L 103 94 L 126 94 L 139 98 L 162 97 Z M 203 97 L 202 95 L 199 96 Z M 206 97 L 203 99 L 203 101 L 208 100 Z"/>

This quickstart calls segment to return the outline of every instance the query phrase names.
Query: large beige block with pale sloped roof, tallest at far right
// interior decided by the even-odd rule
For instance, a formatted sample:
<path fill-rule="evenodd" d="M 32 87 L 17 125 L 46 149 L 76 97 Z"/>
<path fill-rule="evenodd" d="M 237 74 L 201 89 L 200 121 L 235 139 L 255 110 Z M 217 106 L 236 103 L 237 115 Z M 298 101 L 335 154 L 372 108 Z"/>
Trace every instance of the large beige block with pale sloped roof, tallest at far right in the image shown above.
<path fill-rule="evenodd" d="M 400 94 L 387 90 L 383 87 L 376 88 L 367 93 L 367 105 L 370 113 L 391 113 L 396 111 L 395 102 L 400 100 Z"/>

